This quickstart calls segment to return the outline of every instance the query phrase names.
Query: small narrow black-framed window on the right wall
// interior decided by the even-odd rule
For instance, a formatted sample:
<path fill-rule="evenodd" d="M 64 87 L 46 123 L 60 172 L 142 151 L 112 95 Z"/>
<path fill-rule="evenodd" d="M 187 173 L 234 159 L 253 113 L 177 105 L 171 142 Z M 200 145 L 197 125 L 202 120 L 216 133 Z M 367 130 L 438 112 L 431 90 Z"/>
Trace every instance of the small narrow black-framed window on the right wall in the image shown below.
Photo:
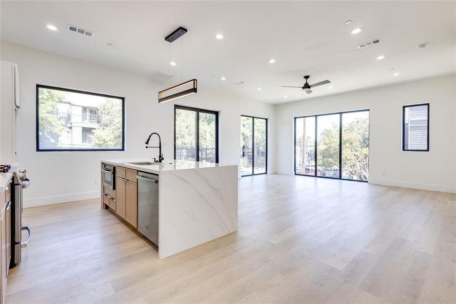
<path fill-rule="evenodd" d="M 429 103 L 402 107 L 402 151 L 429 151 Z"/>

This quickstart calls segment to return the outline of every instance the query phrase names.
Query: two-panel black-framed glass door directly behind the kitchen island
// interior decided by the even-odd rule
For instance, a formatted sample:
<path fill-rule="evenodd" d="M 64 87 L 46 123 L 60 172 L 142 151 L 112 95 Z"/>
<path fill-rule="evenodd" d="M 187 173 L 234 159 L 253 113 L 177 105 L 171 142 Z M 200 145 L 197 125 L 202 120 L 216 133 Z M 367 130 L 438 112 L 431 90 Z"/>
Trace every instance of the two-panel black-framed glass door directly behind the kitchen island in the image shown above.
<path fill-rule="evenodd" d="M 174 106 L 174 158 L 219 162 L 219 113 Z"/>

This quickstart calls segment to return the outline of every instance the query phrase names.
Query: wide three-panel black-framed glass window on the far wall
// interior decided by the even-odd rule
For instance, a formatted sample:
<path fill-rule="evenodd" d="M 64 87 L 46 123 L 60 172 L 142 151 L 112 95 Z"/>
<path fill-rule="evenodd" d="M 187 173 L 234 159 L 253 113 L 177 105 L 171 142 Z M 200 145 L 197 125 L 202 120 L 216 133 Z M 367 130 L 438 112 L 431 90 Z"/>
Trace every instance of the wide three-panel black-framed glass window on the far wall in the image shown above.
<path fill-rule="evenodd" d="M 367 181 L 369 110 L 295 118 L 295 174 Z"/>

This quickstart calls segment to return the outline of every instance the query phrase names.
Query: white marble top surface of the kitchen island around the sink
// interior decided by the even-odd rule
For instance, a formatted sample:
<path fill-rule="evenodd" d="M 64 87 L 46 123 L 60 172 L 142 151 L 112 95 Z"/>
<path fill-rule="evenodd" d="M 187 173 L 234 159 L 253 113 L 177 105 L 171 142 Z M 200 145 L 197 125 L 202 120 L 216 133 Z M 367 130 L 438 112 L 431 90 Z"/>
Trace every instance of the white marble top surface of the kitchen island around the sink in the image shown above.
<path fill-rule="evenodd" d="M 160 174 L 163 171 L 174 171 L 174 170 L 187 170 L 187 169 L 198 169 L 198 168 L 213 168 L 213 167 L 227 167 L 237 165 L 224 165 L 216 163 L 206 162 L 194 162 L 194 161 L 181 161 L 165 159 L 162 163 L 156 163 L 151 165 L 137 165 L 135 163 L 153 163 L 153 159 L 150 158 L 139 158 L 139 159 L 114 159 L 114 160 L 101 160 L 102 163 L 130 168 L 143 172 L 149 172 L 154 174 Z"/>

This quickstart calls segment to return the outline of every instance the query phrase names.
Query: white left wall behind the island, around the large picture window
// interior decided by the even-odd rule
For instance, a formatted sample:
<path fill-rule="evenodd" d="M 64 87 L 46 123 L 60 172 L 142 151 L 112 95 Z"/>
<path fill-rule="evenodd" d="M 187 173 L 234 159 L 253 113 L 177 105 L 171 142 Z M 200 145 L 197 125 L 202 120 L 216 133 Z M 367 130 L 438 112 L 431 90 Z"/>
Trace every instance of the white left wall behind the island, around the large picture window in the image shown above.
<path fill-rule="evenodd" d="M 97 197 L 100 160 L 155 157 L 145 149 L 150 132 L 160 133 L 165 158 L 174 156 L 174 102 L 158 104 L 163 84 L 149 77 L 2 42 L 1 59 L 16 62 L 20 71 L 19 163 L 32 186 L 24 191 L 24 207 Z M 126 151 L 36 152 L 36 84 L 125 97 Z M 268 172 L 274 171 L 275 106 L 198 87 L 198 93 L 176 104 L 220 111 L 219 160 L 239 164 L 240 115 L 269 119 Z"/>

